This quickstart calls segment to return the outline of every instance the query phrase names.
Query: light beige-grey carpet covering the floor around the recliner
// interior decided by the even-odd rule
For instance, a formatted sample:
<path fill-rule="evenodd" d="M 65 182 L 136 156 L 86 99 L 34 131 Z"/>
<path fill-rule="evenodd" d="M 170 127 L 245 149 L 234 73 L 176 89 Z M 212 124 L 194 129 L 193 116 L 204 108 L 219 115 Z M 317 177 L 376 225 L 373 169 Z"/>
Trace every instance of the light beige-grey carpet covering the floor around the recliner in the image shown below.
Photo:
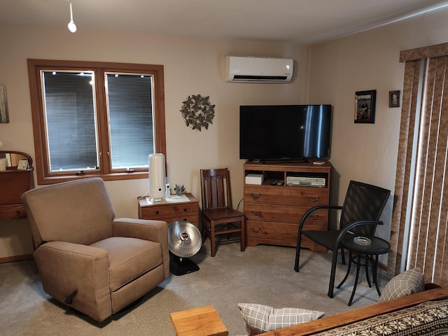
<path fill-rule="evenodd" d="M 302 250 L 300 272 L 294 272 L 295 248 L 255 246 L 239 251 L 239 243 L 221 244 L 216 257 L 209 255 L 209 240 L 192 260 L 200 271 L 169 279 L 108 323 L 98 325 L 66 308 L 43 292 L 33 261 L 0 265 L 1 335 L 175 335 L 169 314 L 213 304 L 229 335 L 246 335 L 237 307 L 239 302 L 324 311 L 326 316 L 377 302 L 374 287 L 360 276 L 356 296 L 347 306 L 355 267 L 335 297 L 327 296 L 331 253 Z M 346 272 L 339 265 L 336 282 Z M 364 274 L 364 272 L 363 272 Z M 73 274 L 74 275 L 74 274 Z M 380 288 L 388 277 L 379 272 Z"/>

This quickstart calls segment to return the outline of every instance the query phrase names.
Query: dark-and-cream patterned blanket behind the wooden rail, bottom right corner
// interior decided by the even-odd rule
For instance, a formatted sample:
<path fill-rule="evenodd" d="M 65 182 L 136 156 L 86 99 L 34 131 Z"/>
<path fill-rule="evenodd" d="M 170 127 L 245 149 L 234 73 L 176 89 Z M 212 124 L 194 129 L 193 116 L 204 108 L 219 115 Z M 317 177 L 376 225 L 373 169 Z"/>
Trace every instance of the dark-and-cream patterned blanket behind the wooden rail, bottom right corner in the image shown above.
<path fill-rule="evenodd" d="M 448 335 L 448 299 L 367 318 L 314 336 Z"/>

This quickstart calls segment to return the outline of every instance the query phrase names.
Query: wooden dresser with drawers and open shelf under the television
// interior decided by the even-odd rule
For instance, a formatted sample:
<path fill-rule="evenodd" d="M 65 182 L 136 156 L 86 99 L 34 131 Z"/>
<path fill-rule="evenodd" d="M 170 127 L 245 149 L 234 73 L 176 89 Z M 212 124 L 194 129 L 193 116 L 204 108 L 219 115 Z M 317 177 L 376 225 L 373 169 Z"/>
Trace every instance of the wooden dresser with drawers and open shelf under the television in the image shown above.
<path fill-rule="evenodd" d="M 329 203 L 330 171 L 323 165 L 304 163 L 264 164 L 246 162 L 244 176 L 262 175 L 259 184 L 244 183 L 244 215 L 246 216 L 247 246 L 272 244 L 296 246 L 300 219 L 311 207 Z M 318 180 L 323 186 L 297 185 L 297 180 Z M 283 184 L 274 184 L 283 181 Z M 294 181 L 294 182 L 293 182 Z M 294 183 L 294 185 L 293 185 Z M 307 230 L 328 230 L 328 210 L 316 211 L 304 224 Z M 325 253 L 325 248 L 302 237 L 302 246 Z"/>

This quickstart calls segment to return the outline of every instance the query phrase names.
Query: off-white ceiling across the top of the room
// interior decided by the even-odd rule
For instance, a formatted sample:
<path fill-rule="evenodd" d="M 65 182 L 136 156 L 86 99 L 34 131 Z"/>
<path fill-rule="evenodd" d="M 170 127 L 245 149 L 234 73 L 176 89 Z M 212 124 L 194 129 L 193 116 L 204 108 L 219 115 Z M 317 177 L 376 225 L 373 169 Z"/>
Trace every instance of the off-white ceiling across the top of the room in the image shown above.
<path fill-rule="evenodd" d="M 82 29 L 316 43 L 448 6 L 440 0 L 72 0 Z M 0 23 L 67 29 L 68 0 L 0 0 Z M 68 31 L 68 30 L 67 30 Z"/>

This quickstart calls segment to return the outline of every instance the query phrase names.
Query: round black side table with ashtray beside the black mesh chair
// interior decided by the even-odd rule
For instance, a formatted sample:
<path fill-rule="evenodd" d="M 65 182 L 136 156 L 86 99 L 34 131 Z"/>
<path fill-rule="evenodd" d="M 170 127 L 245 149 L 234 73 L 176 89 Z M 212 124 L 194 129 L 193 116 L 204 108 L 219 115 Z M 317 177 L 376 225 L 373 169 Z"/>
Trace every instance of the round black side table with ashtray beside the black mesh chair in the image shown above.
<path fill-rule="evenodd" d="M 370 239 L 370 244 L 368 241 Z M 358 241 L 358 242 L 356 242 Z M 384 239 L 378 237 L 362 237 L 360 235 L 345 235 L 342 238 L 342 246 L 349 250 L 349 267 L 344 276 L 344 279 L 337 285 L 337 288 L 340 288 L 342 284 L 346 281 L 349 276 L 351 263 L 356 264 L 356 278 L 355 283 L 353 285 L 353 290 L 351 292 L 351 297 L 349 300 L 349 306 L 351 306 L 351 302 L 353 301 L 353 297 L 355 296 L 356 286 L 358 286 L 359 279 L 359 270 L 361 266 L 365 266 L 365 276 L 367 278 L 367 283 L 369 287 L 372 287 L 369 279 L 369 266 L 372 267 L 372 280 L 377 287 L 378 295 L 381 296 L 381 292 L 379 291 L 378 286 L 378 255 L 388 253 L 391 249 L 391 244 L 389 244 Z M 364 263 L 363 263 L 364 262 Z"/>

